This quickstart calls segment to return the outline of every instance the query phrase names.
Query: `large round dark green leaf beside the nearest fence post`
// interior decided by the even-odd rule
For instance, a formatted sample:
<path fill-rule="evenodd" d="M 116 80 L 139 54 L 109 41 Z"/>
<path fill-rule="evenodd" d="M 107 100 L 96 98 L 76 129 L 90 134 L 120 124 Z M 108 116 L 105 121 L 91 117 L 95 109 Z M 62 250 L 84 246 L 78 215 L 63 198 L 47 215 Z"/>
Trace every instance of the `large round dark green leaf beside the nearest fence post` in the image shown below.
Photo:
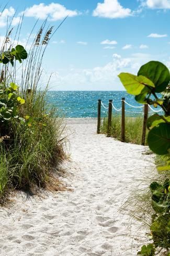
<path fill-rule="evenodd" d="M 165 155 L 170 149 L 170 124 L 160 123 L 152 128 L 148 134 L 148 145 L 150 149 L 158 154 Z"/>

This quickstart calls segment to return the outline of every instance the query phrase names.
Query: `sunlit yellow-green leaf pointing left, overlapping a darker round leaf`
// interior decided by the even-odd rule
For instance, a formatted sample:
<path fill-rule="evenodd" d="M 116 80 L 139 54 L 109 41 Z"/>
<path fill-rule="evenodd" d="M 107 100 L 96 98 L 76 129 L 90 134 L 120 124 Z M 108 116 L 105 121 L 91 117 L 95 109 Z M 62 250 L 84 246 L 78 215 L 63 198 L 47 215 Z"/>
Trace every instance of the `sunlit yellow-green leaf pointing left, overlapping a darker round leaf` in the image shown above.
<path fill-rule="evenodd" d="M 143 76 L 134 76 L 130 73 L 120 73 L 118 76 L 128 93 L 133 95 L 139 95 L 150 91 L 146 84 L 154 88 L 154 84 L 151 80 Z"/>

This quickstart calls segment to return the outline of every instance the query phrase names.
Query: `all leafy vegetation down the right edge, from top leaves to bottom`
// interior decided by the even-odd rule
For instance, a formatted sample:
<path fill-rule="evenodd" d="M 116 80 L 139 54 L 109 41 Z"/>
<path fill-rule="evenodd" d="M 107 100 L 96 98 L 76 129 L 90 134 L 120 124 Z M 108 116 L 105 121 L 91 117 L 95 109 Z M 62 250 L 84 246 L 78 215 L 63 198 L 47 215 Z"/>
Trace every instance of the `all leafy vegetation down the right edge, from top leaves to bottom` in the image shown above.
<path fill-rule="evenodd" d="M 165 156 L 163 161 L 166 164 L 158 166 L 158 170 L 170 170 L 169 70 L 161 62 L 150 61 L 140 68 L 137 76 L 120 73 L 119 78 L 127 92 L 133 94 L 139 103 L 148 103 L 155 108 L 159 105 L 163 109 L 164 115 L 154 114 L 148 119 L 148 145 L 157 155 Z M 157 93 L 162 93 L 162 97 L 159 98 Z M 150 191 L 153 212 L 150 225 L 152 243 L 144 245 L 138 254 L 143 256 L 153 256 L 159 253 L 170 255 L 169 176 L 164 182 L 152 182 Z"/>

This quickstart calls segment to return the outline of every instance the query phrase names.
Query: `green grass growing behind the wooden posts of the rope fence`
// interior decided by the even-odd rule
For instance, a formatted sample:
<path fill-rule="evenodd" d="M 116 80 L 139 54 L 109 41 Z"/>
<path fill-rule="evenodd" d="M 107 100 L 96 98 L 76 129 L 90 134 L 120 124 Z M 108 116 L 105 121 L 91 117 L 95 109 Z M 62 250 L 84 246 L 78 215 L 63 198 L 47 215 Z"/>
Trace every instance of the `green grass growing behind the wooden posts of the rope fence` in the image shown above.
<path fill-rule="evenodd" d="M 107 134 L 108 119 L 104 118 L 101 124 L 101 133 Z M 141 144 L 143 118 L 126 118 L 126 142 L 133 144 Z M 117 140 L 121 140 L 121 117 L 112 116 L 110 134 Z"/>

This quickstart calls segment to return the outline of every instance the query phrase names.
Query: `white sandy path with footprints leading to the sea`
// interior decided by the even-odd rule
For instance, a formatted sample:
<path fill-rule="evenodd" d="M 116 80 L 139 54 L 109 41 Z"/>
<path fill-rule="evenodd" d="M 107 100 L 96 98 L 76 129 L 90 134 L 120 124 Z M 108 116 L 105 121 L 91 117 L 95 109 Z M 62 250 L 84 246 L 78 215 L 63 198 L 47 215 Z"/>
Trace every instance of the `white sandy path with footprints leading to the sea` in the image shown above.
<path fill-rule="evenodd" d="M 145 230 L 118 210 L 148 164 L 154 166 L 152 157 L 142 154 L 143 146 L 96 135 L 96 120 L 67 124 L 75 133 L 64 180 L 73 191 L 41 199 L 22 194 L 12 207 L 1 208 L 0 255 L 136 255 Z"/>

